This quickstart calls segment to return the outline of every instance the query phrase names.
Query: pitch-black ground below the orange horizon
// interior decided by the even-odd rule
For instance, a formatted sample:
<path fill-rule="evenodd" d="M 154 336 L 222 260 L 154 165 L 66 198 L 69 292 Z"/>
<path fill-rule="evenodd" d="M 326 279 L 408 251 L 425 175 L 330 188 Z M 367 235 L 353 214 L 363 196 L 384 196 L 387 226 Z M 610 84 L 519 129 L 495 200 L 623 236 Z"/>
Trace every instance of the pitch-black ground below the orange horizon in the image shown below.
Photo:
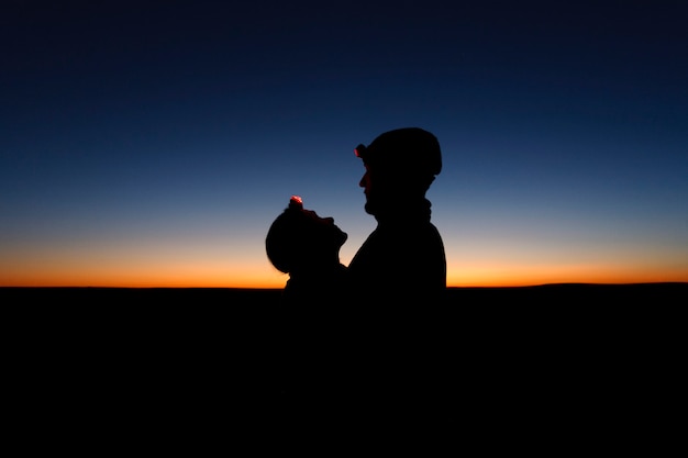
<path fill-rule="evenodd" d="M 452 289 L 445 306 L 376 311 L 285 313 L 278 298 L 0 289 L 9 412 L 18 424 L 148 437 L 230 422 L 286 431 L 295 415 L 488 436 L 676 429 L 665 410 L 684 399 L 688 283 Z"/>

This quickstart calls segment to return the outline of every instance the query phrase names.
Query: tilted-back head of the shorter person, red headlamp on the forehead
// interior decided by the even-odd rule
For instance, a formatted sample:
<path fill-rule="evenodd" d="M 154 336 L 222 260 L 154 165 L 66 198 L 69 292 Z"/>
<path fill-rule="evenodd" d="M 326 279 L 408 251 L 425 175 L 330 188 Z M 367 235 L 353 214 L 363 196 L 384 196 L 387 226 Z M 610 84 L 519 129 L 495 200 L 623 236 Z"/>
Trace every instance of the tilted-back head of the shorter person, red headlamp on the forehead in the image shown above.
<path fill-rule="evenodd" d="M 289 206 L 270 225 L 265 249 L 276 269 L 299 273 L 339 265 L 346 238 L 332 217 L 304 210 L 301 198 L 292 196 Z"/>

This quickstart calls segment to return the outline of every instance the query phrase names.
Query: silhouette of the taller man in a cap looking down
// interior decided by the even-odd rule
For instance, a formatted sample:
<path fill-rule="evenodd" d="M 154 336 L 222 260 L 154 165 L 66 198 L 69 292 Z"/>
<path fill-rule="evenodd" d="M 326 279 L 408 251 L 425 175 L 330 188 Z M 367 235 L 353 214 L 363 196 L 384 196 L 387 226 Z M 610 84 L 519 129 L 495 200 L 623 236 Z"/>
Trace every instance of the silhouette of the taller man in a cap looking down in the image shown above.
<path fill-rule="evenodd" d="M 358 183 L 365 210 L 377 227 L 348 265 L 353 300 L 441 303 L 446 258 L 425 198 L 442 169 L 437 138 L 419 127 L 398 129 L 355 153 L 366 168 Z"/>

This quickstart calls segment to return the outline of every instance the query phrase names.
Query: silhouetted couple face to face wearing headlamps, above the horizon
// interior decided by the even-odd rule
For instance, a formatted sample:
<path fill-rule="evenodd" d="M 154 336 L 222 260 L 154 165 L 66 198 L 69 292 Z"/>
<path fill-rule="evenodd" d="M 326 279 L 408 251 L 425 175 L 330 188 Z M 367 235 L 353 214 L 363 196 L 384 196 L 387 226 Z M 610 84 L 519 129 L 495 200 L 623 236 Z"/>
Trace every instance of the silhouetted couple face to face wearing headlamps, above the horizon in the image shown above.
<path fill-rule="evenodd" d="M 446 258 L 425 198 L 442 169 L 437 138 L 419 127 L 397 129 L 358 145 L 355 154 L 365 167 L 365 211 L 377 227 L 344 266 L 346 233 L 292 197 L 265 241 L 273 266 L 289 273 L 282 303 L 443 303 Z"/>

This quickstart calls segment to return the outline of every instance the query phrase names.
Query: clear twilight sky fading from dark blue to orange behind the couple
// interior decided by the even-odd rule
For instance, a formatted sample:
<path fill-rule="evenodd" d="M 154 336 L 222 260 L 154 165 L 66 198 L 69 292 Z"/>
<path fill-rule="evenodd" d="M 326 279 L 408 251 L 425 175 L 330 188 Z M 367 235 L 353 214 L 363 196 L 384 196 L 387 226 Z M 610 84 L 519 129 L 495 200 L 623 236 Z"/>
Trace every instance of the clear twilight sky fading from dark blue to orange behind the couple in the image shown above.
<path fill-rule="evenodd" d="M 688 2 L 5 1 L 0 286 L 281 287 L 298 193 L 433 132 L 450 286 L 688 281 Z"/>

